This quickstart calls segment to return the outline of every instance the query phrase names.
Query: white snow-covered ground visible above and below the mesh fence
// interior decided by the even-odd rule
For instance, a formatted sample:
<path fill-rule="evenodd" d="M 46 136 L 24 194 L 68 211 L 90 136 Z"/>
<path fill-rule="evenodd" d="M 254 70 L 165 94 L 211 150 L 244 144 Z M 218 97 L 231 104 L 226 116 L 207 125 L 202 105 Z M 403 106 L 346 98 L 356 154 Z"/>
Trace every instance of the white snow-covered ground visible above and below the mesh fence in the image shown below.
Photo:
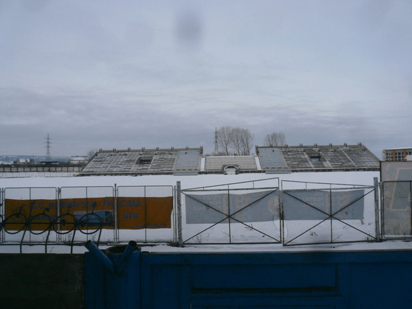
<path fill-rule="evenodd" d="M 194 187 L 227 185 L 230 187 L 281 187 L 283 190 L 330 187 L 328 183 L 346 185 L 374 185 L 374 177 L 379 172 L 301 172 L 293 174 L 240 174 L 240 175 L 198 175 L 198 176 L 84 176 L 84 177 L 30 177 L 0 179 L 0 187 L 82 187 L 82 186 L 133 186 L 133 185 L 176 185 L 180 181 L 183 190 Z M 253 183 L 243 183 L 254 181 Z M 306 183 L 308 182 L 308 183 Z M 323 183 L 323 184 L 316 184 Z M 227 186 L 226 186 L 227 187 Z M 111 247 L 106 246 L 106 247 Z M 102 247 L 104 248 L 104 247 Z M 412 249 L 412 242 L 388 241 L 379 243 L 352 244 L 315 244 L 283 247 L 282 244 L 192 244 L 184 248 L 158 244 L 155 247 L 143 247 L 150 252 L 265 252 L 265 251 L 324 251 L 324 250 L 389 250 Z M 44 246 L 23 246 L 23 253 L 44 252 Z M 48 252 L 69 253 L 70 248 L 61 245 L 49 245 Z M 84 247 L 74 247 L 73 253 L 87 251 Z M 1 245 L 0 252 L 19 252 L 19 246 Z"/>

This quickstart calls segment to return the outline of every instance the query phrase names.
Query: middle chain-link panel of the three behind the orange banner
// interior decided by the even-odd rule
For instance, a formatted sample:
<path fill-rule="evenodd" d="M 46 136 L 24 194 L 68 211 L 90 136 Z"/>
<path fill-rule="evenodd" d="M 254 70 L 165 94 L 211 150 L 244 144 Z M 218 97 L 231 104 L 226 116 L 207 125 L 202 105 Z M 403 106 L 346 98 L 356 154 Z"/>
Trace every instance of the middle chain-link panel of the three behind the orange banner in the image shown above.
<path fill-rule="evenodd" d="M 113 187 L 61 187 L 59 216 L 54 225 L 61 242 L 114 242 Z"/>

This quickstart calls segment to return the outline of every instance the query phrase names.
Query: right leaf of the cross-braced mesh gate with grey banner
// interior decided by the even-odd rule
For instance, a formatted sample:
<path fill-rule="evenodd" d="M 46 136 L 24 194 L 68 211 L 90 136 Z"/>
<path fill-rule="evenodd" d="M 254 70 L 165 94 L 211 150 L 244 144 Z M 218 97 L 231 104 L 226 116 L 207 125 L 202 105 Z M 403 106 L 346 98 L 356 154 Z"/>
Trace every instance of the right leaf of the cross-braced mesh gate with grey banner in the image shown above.
<path fill-rule="evenodd" d="M 374 190 L 283 190 L 284 245 L 376 240 Z"/>

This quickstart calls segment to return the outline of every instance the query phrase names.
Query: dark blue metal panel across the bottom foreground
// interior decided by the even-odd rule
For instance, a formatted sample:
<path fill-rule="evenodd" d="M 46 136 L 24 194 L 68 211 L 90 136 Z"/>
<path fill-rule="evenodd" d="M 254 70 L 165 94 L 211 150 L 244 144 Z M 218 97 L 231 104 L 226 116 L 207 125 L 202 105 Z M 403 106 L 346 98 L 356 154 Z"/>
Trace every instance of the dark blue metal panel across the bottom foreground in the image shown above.
<path fill-rule="evenodd" d="M 412 304 L 412 251 L 140 256 L 130 261 L 124 276 L 108 274 L 87 257 L 87 308 L 343 309 Z"/>

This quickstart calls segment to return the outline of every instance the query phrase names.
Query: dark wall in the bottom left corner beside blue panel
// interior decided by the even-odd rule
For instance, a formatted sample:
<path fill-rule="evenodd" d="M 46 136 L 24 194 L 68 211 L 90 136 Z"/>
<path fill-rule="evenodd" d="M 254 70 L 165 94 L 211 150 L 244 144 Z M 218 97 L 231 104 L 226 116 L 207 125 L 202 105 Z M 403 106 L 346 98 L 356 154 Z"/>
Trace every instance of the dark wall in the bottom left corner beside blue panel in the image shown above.
<path fill-rule="evenodd" d="M 84 255 L 0 254 L 0 308 L 84 308 Z"/>

